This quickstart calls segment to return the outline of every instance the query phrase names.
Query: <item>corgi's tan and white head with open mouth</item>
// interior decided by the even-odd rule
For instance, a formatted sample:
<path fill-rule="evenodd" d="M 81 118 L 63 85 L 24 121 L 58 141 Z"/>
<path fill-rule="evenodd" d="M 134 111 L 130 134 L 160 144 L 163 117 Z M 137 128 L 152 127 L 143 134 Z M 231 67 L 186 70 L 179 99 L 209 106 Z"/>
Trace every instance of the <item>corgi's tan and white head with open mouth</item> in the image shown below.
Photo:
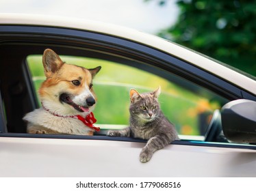
<path fill-rule="evenodd" d="M 42 63 L 47 77 L 39 89 L 43 106 L 56 115 L 88 115 L 97 101 L 92 79 L 101 66 L 86 69 L 64 63 L 51 49 L 44 50 Z"/>

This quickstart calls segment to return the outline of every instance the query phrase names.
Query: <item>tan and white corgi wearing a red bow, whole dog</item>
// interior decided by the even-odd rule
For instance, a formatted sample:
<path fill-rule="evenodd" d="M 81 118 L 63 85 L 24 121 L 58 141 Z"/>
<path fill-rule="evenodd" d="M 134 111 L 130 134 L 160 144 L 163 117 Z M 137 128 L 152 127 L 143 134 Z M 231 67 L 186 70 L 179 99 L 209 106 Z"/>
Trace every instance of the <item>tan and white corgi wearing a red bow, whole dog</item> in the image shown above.
<path fill-rule="evenodd" d="M 42 107 L 27 113 L 27 132 L 31 134 L 93 135 L 99 128 L 92 111 L 97 102 L 92 79 L 101 66 L 86 69 L 64 63 L 53 50 L 42 55 L 46 80 L 38 91 Z"/>

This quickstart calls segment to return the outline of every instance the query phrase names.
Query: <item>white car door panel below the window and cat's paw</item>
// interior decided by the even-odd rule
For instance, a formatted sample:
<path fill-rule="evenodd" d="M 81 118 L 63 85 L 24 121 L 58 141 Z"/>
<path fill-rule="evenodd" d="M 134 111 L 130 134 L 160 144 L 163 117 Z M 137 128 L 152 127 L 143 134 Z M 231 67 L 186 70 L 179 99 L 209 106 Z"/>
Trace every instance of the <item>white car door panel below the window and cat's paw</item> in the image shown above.
<path fill-rule="evenodd" d="M 147 163 L 145 143 L 0 138 L 0 177 L 255 177 L 256 152 L 168 145 Z M 197 168 L 195 169 L 194 166 Z"/>

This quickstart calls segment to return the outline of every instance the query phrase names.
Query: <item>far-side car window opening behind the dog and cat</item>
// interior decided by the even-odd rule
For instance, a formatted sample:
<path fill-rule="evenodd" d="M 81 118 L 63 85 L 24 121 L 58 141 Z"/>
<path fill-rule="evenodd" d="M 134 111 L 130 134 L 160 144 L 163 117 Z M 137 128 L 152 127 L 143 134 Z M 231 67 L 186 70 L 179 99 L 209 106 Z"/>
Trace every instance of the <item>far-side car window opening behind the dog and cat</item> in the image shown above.
<path fill-rule="evenodd" d="M 97 125 L 101 127 L 101 134 L 105 134 L 109 129 L 128 126 L 131 88 L 146 92 L 161 86 L 159 103 L 162 111 L 175 124 L 179 136 L 185 139 L 204 140 L 214 111 L 229 102 L 212 91 L 152 65 L 136 61 L 133 61 L 132 65 L 126 65 L 106 59 L 66 55 L 60 57 L 66 63 L 84 68 L 96 68 L 101 65 L 102 69 L 93 82 L 98 98 L 94 115 L 97 117 Z M 29 55 L 27 65 L 38 98 L 38 88 L 45 80 L 42 55 Z M 146 70 L 136 65 L 144 65 Z M 38 104 L 40 105 L 39 98 Z"/>

